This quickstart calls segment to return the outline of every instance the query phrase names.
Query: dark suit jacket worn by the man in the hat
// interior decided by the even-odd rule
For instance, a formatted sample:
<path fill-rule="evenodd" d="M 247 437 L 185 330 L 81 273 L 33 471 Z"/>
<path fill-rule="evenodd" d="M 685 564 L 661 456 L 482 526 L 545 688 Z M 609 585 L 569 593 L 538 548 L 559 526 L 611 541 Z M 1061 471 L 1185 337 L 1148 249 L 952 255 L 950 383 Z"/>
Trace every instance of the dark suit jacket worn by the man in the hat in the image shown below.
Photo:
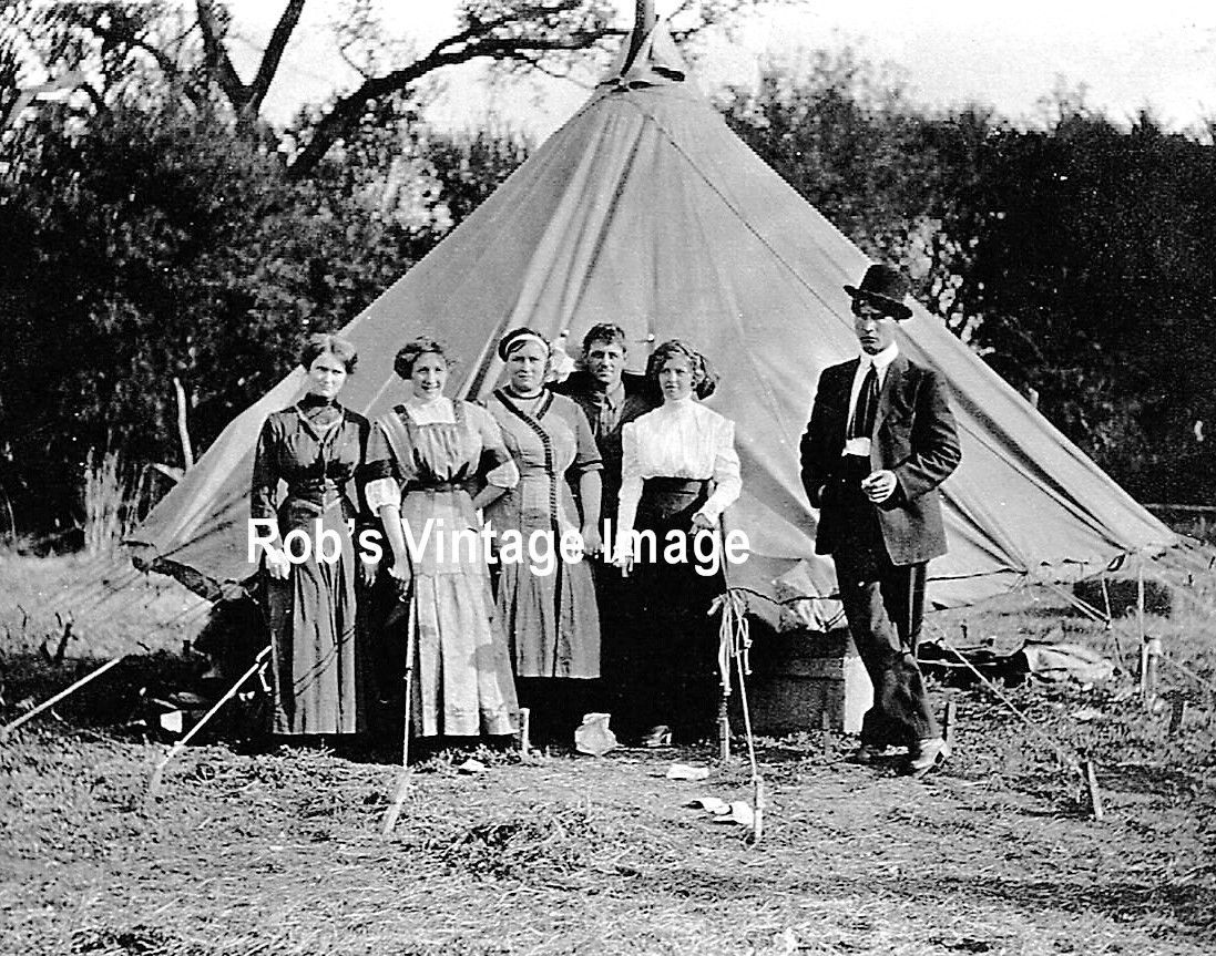
<path fill-rule="evenodd" d="M 803 487 L 811 505 L 820 509 L 816 554 L 832 554 L 850 533 L 838 503 L 844 487 L 840 457 L 849 420 L 849 394 L 858 362 L 854 358 L 823 369 L 803 436 Z M 895 492 L 874 505 L 893 564 L 918 564 L 946 553 L 938 486 L 955 470 L 959 458 L 945 383 L 933 369 L 897 355 L 878 394 L 869 448 L 872 470 L 895 473 Z"/>

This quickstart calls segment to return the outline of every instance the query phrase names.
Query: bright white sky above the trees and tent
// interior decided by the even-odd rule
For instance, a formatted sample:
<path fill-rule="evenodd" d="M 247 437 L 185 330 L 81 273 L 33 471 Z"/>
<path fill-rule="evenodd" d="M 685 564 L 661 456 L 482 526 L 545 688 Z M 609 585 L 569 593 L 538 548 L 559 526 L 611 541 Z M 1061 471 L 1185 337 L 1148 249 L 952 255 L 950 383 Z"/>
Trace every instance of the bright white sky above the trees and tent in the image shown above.
<path fill-rule="evenodd" d="M 1114 119 L 1149 107 L 1171 128 L 1216 118 L 1216 2 L 1152 0 L 786 0 L 788 9 L 749 13 L 741 43 L 711 44 L 698 63 L 703 86 L 754 80 L 766 61 L 799 51 L 851 45 L 868 60 L 890 63 L 928 106 L 979 102 L 1003 115 L 1035 123 L 1040 100 L 1062 83 L 1083 84 L 1086 102 Z M 620 22 L 634 0 L 617 0 Z M 454 24 L 455 0 L 379 0 L 385 26 L 418 50 Z M 674 0 L 657 0 L 659 13 Z M 282 4 L 233 0 L 236 29 L 248 51 L 246 75 Z M 331 28 L 347 5 L 310 0 L 306 30 L 288 50 L 268 101 L 271 119 L 286 119 L 304 102 L 350 89 L 355 74 L 334 53 Z M 407 13 L 404 11 L 409 11 Z M 240 52 L 241 46 L 237 47 Z M 430 112 L 439 125 L 477 126 L 490 115 L 517 129 L 547 135 L 586 98 L 576 85 L 540 79 L 523 86 L 488 84 L 484 69 L 451 70 Z"/>

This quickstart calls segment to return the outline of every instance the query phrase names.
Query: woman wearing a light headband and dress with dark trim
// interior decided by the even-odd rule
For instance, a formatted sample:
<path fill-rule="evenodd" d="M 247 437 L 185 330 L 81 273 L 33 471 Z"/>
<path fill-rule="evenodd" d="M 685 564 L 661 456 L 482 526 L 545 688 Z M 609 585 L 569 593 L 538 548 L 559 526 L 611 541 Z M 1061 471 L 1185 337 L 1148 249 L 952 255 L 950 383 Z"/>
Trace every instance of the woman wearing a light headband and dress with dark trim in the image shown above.
<path fill-rule="evenodd" d="M 486 407 L 520 477 L 485 515 L 499 543 L 497 606 L 519 702 L 533 709 L 537 742 L 546 735 L 569 742 L 592 692 L 585 681 L 599 677 L 599 613 L 579 550 L 601 549 L 601 460 L 582 409 L 545 388 L 550 355 L 548 341 L 528 328 L 499 343 L 507 385 Z M 581 513 L 568 481 L 578 483 Z"/>

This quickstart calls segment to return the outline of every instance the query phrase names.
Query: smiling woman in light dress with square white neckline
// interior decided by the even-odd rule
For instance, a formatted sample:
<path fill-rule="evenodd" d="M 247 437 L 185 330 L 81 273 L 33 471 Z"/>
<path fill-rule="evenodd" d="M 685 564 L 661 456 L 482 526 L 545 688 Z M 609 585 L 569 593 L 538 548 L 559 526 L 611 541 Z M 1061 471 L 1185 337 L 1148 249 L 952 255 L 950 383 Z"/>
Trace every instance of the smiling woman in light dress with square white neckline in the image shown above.
<path fill-rule="evenodd" d="M 406 732 L 506 735 L 518 705 L 489 570 L 482 548 L 457 543 L 452 532 L 478 536 L 477 509 L 513 488 L 519 470 L 489 412 L 443 394 L 449 364 L 434 339 L 405 345 L 393 367 L 411 395 L 376 420 L 367 443 L 367 505 L 384 521 L 387 573 L 409 604 L 382 639 L 400 651 L 413 639 Z"/>

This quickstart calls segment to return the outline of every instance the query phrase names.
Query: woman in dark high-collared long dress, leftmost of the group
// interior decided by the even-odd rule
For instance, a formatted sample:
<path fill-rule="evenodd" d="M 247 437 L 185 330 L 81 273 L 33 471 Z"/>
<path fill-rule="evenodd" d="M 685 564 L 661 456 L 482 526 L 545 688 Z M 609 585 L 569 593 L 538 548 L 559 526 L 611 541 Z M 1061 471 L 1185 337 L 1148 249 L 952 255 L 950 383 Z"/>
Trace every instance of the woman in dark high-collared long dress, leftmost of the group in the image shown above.
<path fill-rule="evenodd" d="M 271 522 L 274 533 L 263 559 L 275 734 L 362 730 L 348 521 L 358 514 L 351 479 L 364 459 L 368 425 L 337 401 L 355 361 L 349 343 L 313 335 L 300 356 L 306 394 L 269 415 L 258 439 L 250 510 L 255 520 Z M 281 482 L 286 494 L 280 500 Z"/>

